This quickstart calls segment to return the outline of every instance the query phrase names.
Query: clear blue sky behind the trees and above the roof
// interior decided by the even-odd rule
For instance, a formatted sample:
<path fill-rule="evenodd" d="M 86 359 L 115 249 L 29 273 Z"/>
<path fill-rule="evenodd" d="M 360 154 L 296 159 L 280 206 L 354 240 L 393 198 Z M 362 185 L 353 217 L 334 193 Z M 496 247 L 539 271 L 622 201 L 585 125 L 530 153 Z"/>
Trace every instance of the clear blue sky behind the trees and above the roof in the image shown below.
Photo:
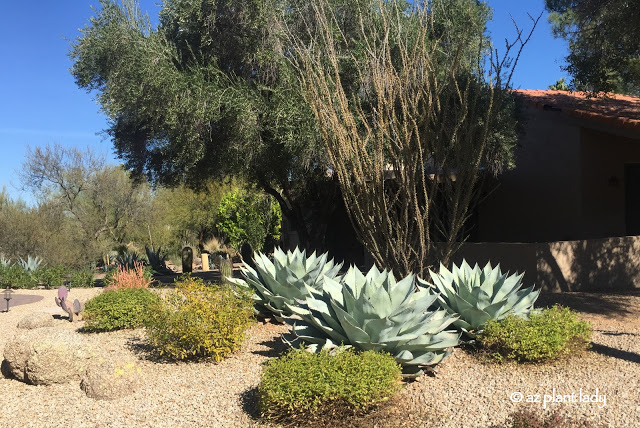
<path fill-rule="evenodd" d="M 157 16 L 160 0 L 143 0 L 141 9 Z M 33 199 L 18 190 L 17 172 L 31 147 L 59 143 L 86 148 L 114 160 L 111 142 L 98 135 L 107 127 L 91 94 L 76 87 L 67 57 L 69 41 L 79 34 L 94 12 L 97 0 L 2 1 L 0 16 L 0 186 L 12 197 Z M 529 29 L 527 12 L 538 16 L 544 0 L 489 0 L 494 19 L 489 30 L 504 51 L 504 39 L 513 39 L 510 16 Z M 566 43 L 551 35 L 546 13 L 540 19 L 514 74 L 513 86 L 546 89 L 565 76 L 560 69 Z"/>

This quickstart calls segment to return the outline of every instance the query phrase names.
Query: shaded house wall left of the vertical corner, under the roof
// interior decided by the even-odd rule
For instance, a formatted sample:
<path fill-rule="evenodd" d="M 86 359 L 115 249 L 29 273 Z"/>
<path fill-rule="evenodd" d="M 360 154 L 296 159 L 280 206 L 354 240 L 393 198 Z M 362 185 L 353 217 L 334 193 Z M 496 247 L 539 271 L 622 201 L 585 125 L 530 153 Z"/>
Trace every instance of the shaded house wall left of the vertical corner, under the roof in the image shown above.
<path fill-rule="evenodd" d="M 478 210 L 478 242 L 543 242 L 577 237 L 580 128 L 560 112 L 526 109 L 516 168 Z"/>

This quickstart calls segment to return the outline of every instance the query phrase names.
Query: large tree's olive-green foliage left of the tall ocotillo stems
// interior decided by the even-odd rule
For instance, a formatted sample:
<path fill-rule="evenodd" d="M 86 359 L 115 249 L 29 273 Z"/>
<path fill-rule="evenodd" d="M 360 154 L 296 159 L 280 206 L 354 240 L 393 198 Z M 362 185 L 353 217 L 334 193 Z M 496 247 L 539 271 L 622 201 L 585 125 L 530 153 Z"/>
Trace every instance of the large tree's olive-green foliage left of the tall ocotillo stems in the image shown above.
<path fill-rule="evenodd" d="M 72 73 L 97 92 L 125 166 L 169 186 L 241 178 L 273 196 L 309 244 L 322 221 L 307 208 L 326 217 L 338 193 L 278 34 L 287 7 L 168 0 L 153 28 L 133 0 L 100 3 L 72 45 Z"/>

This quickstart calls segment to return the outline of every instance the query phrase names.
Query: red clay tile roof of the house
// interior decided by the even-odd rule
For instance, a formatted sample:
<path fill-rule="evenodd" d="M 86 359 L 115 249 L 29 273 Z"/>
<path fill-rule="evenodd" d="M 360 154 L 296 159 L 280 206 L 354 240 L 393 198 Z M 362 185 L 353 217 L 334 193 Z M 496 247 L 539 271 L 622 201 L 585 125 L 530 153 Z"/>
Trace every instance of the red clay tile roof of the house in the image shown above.
<path fill-rule="evenodd" d="M 640 98 L 610 94 L 603 98 L 587 98 L 581 92 L 552 90 L 515 90 L 529 104 L 562 111 L 603 124 L 640 131 Z"/>

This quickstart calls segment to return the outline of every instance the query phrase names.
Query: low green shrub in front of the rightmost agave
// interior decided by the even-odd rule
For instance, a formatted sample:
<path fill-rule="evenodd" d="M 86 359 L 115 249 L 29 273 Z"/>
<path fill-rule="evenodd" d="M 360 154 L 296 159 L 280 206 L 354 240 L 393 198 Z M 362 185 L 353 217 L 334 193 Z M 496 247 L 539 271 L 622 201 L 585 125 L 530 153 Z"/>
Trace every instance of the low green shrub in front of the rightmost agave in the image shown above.
<path fill-rule="evenodd" d="M 591 326 L 569 308 L 554 306 L 533 313 L 529 320 L 509 316 L 490 321 L 478 336 L 489 356 L 518 362 L 556 359 L 589 346 Z"/>

